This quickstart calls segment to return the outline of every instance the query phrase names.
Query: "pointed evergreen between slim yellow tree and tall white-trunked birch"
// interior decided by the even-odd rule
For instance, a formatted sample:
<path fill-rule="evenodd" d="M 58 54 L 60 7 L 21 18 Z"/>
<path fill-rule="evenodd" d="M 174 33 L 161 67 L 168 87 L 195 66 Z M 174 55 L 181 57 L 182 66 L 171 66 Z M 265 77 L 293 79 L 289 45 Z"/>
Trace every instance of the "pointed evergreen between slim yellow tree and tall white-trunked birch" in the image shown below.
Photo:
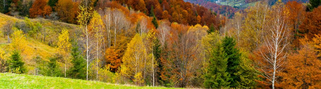
<path fill-rule="evenodd" d="M 67 71 L 68 76 L 75 79 L 86 79 L 86 62 L 78 50 L 77 43 L 71 49 L 72 67 Z"/>

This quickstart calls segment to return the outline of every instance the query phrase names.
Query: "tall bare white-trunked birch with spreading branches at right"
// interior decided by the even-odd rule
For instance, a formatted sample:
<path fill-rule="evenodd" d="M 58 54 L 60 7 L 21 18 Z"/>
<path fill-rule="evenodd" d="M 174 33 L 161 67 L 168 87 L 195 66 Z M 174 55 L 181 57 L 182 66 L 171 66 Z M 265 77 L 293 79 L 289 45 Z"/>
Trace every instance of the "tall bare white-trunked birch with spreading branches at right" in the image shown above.
<path fill-rule="evenodd" d="M 288 31 L 286 22 L 286 13 L 284 12 L 284 4 L 277 2 L 272 7 L 271 23 L 268 25 L 270 29 L 265 36 L 265 50 L 260 50 L 260 55 L 264 63 L 260 63 L 259 70 L 261 75 L 268 79 L 267 83 L 274 84 L 278 74 L 284 70 L 283 64 L 286 61 L 286 47 L 288 42 Z"/>

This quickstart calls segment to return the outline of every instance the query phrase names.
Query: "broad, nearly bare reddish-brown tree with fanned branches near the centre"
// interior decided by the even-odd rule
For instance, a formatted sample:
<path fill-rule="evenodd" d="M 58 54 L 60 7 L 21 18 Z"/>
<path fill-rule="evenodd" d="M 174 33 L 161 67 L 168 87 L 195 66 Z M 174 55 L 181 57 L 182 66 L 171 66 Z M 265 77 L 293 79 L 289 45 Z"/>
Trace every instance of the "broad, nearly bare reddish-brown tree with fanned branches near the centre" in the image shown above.
<path fill-rule="evenodd" d="M 167 68 L 170 68 L 173 75 L 178 75 L 179 87 L 190 85 L 191 79 L 194 78 L 196 72 L 202 65 L 200 40 L 195 34 L 198 31 L 188 31 L 187 26 L 181 26 L 182 31 L 172 29 L 172 38 L 169 48 L 172 50 L 167 63 Z M 185 29 L 185 30 L 184 30 Z M 206 33 L 206 31 L 205 31 Z M 179 73 L 179 74 L 177 74 Z"/>

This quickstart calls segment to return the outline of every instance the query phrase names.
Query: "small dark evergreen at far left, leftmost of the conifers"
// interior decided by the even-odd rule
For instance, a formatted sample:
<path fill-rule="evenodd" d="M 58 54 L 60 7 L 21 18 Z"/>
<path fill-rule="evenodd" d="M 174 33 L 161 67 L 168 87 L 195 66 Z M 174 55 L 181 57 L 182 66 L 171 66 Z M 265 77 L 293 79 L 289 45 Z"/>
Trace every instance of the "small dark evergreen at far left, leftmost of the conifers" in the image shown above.
<path fill-rule="evenodd" d="M 26 69 L 23 67 L 24 62 L 22 61 L 22 58 L 20 56 L 20 53 L 18 51 L 13 51 L 13 54 L 10 57 L 10 60 L 8 60 L 8 71 L 12 73 L 17 74 L 23 74 L 26 72 Z"/>

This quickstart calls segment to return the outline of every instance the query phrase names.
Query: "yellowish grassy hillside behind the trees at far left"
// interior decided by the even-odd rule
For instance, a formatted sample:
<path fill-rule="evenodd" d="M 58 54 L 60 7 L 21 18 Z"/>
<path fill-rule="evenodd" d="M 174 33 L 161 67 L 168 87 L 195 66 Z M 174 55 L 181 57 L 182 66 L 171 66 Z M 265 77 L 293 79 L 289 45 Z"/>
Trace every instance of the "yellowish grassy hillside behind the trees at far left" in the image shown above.
<path fill-rule="evenodd" d="M 22 19 L 18 19 L 0 13 L 0 29 L 8 20 L 11 20 L 12 22 L 24 21 Z M 34 24 L 37 22 L 41 23 L 42 27 L 48 30 L 48 35 L 46 36 L 46 41 L 43 42 L 40 40 L 40 38 L 43 39 L 44 35 L 39 33 L 38 38 L 36 38 L 35 36 L 29 36 L 27 34 L 27 41 L 29 42 L 28 47 L 30 47 L 31 52 L 28 55 L 22 54 L 22 56 L 23 61 L 25 62 L 26 67 L 28 69 L 28 74 L 34 73 L 35 61 L 33 61 L 33 58 L 39 56 L 42 60 L 49 61 L 48 57 L 55 54 L 56 42 L 58 40 L 57 38 L 62 29 L 68 29 L 70 34 L 73 35 L 75 29 L 78 28 L 78 26 L 74 24 L 67 24 L 58 21 L 53 22 L 51 20 L 46 19 L 31 19 L 31 22 Z M 49 46 L 48 43 L 51 43 L 51 41 L 53 45 Z M 7 56 L 10 56 L 12 51 L 10 49 L 9 44 L 7 43 L 7 37 L 4 37 L 1 31 L 0 46 L 4 48 L 4 51 L 6 52 Z"/>

